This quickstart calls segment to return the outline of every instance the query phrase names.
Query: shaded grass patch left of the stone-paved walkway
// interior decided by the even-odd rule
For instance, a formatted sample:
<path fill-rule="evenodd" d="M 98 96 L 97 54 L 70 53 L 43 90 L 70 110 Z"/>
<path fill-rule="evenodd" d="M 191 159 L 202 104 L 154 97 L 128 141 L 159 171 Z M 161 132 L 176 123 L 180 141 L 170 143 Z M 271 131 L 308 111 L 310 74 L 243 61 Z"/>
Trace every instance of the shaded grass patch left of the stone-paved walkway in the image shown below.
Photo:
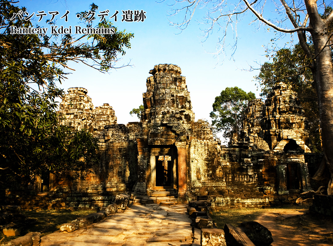
<path fill-rule="evenodd" d="M 88 215 L 90 213 L 96 212 L 96 209 L 85 209 L 72 211 L 69 209 L 61 210 L 32 210 L 32 211 L 21 211 L 22 214 L 27 217 L 37 219 L 37 223 L 34 225 L 27 226 L 23 228 L 20 236 L 24 236 L 28 232 L 40 232 L 42 236 L 50 234 L 54 231 L 59 230 L 60 226 L 64 223 L 70 223 L 77 217 Z M 0 244 L 13 240 L 20 236 L 5 236 L 2 231 L 0 231 Z"/>

